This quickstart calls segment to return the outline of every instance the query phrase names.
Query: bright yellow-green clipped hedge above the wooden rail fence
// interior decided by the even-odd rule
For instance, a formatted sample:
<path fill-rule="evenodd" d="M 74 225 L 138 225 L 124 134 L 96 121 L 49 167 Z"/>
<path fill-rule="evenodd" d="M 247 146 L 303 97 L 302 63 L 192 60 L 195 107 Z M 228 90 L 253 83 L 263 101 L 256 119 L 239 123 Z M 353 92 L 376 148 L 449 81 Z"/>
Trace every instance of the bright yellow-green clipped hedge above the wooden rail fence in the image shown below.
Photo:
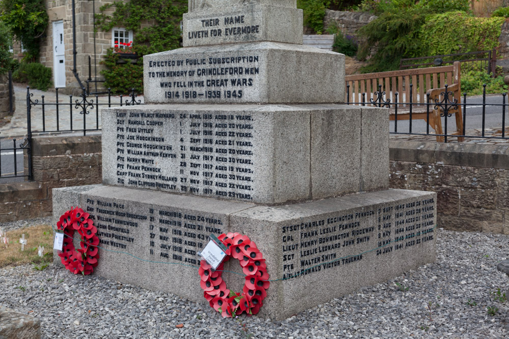
<path fill-rule="evenodd" d="M 498 46 L 504 19 L 479 18 L 465 12 L 430 16 L 420 29 L 425 56 L 491 50 Z"/>

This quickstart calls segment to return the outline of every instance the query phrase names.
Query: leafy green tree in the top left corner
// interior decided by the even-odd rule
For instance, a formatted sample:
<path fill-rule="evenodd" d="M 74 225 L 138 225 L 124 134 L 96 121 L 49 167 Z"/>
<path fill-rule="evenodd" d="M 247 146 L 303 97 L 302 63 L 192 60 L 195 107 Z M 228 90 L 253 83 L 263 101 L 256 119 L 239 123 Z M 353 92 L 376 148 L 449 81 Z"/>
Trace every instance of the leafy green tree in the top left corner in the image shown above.
<path fill-rule="evenodd" d="M 2 21 L 26 49 L 25 59 L 39 57 L 40 39 L 48 25 L 48 14 L 43 0 L 0 1 Z"/>

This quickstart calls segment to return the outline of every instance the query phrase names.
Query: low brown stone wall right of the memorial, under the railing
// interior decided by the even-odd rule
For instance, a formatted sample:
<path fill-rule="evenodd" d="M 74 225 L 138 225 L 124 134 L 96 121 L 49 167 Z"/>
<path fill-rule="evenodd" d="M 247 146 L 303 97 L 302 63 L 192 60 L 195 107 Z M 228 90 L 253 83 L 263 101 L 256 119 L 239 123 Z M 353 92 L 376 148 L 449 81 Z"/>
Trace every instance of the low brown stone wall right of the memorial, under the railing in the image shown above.
<path fill-rule="evenodd" d="M 438 227 L 509 234 L 509 145 L 391 141 L 390 187 L 436 192 Z"/>

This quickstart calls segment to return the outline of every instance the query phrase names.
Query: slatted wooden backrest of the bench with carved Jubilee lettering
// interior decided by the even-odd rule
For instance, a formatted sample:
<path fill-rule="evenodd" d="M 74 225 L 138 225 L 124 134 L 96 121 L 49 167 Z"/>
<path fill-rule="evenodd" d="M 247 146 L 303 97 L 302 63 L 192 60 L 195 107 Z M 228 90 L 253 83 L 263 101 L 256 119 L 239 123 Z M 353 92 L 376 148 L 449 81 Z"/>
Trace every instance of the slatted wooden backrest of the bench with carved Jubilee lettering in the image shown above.
<path fill-rule="evenodd" d="M 374 100 L 378 98 L 375 92 L 378 91 L 378 86 L 382 85 L 382 91 L 385 91 L 383 98 L 385 101 L 390 99 L 390 102 L 394 103 L 395 93 L 398 92 L 398 103 L 410 103 L 411 97 L 412 103 L 425 104 L 428 90 L 444 87 L 445 84 L 450 86 L 460 83 L 460 81 L 460 63 L 458 61 L 452 66 L 347 75 L 345 77 L 346 102 L 361 103 L 362 93 L 365 93 L 365 102 L 369 103 L 371 98 Z M 410 84 L 413 85 L 411 96 Z M 405 107 L 408 105 L 398 105 L 398 109 Z"/>

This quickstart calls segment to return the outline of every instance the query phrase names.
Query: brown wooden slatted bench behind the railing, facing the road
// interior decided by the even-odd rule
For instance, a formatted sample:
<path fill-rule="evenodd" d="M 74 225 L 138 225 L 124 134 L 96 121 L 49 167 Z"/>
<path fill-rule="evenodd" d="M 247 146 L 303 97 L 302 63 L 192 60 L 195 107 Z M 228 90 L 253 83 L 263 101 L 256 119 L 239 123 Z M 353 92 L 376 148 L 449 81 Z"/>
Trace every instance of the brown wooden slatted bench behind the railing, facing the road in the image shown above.
<path fill-rule="evenodd" d="M 348 75 L 345 78 L 347 91 L 346 102 L 362 103 L 362 93 L 365 93 L 366 106 L 375 106 L 370 103 L 378 99 L 377 91 L 379 85 L 381 90 L 385 91 L 385 97 L 382 101 L 390 99 L 390 103 L 396 102 L 396 93 L 398 93 L 398 114 L 395 114 L 395 105 L 390 105 L 390 120 L 409 120 L 410 102 L 412 102 L 412 120 L 423 119 L 429 121 L 430 128 L 435 130 L 436 134 L 443 134 L 442 119 L 443 105 L 435 109 L 435 102 L 442 102 L 444 99 L 445 85 L 447 91 L 452 92 L 448 96 L 448 113 L 455 115 L 456 132 L 454 135 L 463 134 L 463 116 L 461 113 L 461 67 L 459 62 L 452 66 L 418 68 L 403 71 L 368 73 L 359 75 Z M 412 86 L 410 86 L 412 84 Z M 410 93 L 410 87 L 412 91 Z M 430 114 L 427 113 L 427 94 L 430 95 Z M 458 107 L 450 106 L 449 102 L 458 100 Z M 449 121 L 449 120 L 448 120 Z M 437 136 L 437 141 L 443 142 L 444 137 Z M 458 137 L 458 141 L 464 141 L 463 137 Z"/>

